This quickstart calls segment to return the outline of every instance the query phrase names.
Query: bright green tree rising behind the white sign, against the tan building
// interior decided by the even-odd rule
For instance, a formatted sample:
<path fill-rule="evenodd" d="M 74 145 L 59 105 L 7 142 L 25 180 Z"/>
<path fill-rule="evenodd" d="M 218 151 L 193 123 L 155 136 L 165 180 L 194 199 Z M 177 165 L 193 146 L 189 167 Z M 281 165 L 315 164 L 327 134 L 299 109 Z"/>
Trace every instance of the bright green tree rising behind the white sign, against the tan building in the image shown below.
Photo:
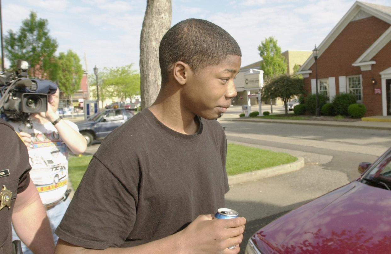
<path fill-rule="evenodd" d="M 287 73 L 287 60 L 281 55 L 281 48 L 274 37 L 262 41 L 258 51 L 262 57 L 261 69 L 264 71 L 265 80 Z"/>

